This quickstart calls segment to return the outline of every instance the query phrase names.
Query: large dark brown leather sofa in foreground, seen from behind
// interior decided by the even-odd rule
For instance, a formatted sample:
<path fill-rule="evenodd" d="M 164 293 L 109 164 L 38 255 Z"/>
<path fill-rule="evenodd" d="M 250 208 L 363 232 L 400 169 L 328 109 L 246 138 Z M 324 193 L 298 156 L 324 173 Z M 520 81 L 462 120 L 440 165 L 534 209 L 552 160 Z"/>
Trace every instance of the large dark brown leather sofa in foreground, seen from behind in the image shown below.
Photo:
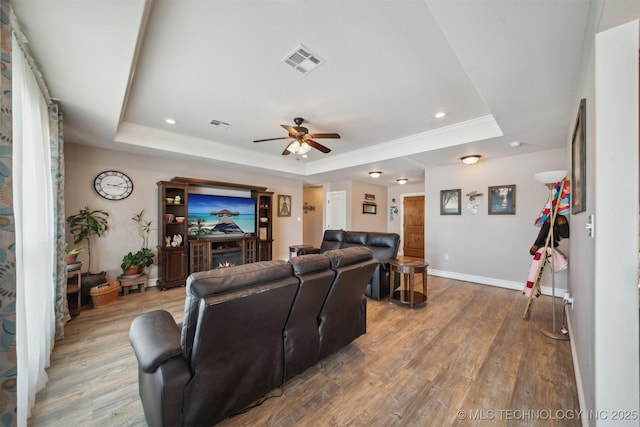
<path fill-rule="evenodd" d="M 353 247 L 192 274 L 181 325 L 131 324 L 149 426 L 213 425 L 366 332 L 378 262 Z"/>

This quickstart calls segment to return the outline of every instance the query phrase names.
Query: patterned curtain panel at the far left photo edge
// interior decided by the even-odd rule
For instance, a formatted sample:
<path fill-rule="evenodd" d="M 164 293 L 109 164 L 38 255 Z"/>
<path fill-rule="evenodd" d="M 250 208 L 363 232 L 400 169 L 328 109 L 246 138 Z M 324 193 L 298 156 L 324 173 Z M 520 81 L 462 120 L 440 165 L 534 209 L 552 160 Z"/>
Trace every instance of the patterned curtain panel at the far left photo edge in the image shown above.
<path fill-rule="evenodd" d="M 10 1 L 0 0 L 0 424 L 17 424 L 16 262 Z"/>

